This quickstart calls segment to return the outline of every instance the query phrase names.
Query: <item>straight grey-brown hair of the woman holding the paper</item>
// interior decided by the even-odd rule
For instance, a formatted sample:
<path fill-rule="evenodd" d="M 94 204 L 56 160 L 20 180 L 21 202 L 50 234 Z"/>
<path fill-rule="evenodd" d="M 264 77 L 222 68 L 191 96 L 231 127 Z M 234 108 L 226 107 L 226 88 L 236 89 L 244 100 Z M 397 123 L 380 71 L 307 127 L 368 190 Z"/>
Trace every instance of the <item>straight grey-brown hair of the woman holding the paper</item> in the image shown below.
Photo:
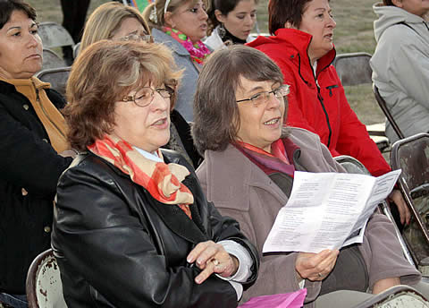
<path fill-rule="evenodd" d="M 235 92 L 240 77 L 283 83 L 280 68 L 255 48 L 233 45 L 215 51 L 199 73 L 194 97 L 194 143 L 201 154 L 225 150 L 240 128 Z"/>

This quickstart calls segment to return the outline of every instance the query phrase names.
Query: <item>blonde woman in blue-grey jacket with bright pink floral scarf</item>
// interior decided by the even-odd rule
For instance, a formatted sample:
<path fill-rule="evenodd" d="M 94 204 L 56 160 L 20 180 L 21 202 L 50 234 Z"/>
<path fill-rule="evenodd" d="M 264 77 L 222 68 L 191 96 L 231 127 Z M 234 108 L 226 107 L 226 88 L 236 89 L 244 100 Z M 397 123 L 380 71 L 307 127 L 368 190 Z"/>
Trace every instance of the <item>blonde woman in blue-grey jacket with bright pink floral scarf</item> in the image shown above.
<path fill-rule="evenodd" d="M 198 73 L 210 54 L 201 41 L 207 31 L 207 0 L 156 0 L 143 12 L 156 43 L 172 50 L 174 62 L 183 69 L 176 110 L 192 122 L 192 101 Z"/>

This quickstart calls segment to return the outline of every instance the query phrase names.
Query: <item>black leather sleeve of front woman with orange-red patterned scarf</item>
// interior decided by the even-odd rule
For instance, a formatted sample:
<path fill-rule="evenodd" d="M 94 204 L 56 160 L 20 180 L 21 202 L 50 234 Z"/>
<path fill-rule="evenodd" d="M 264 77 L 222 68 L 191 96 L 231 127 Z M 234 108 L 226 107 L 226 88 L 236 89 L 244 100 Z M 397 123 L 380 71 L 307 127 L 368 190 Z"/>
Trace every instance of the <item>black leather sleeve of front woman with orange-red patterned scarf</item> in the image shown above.
<path fill-rule="evenodd" d="M 73 269 L 116 307 L 236 307 L 230 283 L 197 285 L 197 267 L 167 266 L 109 177 L 73 167 L 60 179 L 53 246 Z"/>

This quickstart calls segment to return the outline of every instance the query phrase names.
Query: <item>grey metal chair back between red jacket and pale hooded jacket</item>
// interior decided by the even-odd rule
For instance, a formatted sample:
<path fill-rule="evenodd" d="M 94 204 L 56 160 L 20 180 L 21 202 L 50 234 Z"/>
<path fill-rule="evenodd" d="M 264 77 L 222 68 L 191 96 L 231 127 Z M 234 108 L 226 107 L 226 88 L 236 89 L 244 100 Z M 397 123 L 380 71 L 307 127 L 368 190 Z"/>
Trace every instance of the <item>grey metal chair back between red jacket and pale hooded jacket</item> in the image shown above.
<path fill-rule="evenodd" d="M 370 59 L 371 55 L 363 52 L 341 54 L 335 57 L 332 64 L 343 86 L 356 86 L 373 82 Z"/>

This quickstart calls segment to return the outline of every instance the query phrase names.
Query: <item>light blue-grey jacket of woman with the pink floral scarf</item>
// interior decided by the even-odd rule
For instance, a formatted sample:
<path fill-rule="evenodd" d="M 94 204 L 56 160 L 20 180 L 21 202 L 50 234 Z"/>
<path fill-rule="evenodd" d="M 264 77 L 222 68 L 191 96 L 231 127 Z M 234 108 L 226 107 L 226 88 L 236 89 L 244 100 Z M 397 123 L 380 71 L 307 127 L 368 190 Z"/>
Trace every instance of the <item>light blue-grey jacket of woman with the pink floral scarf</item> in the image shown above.
<path fill-rule="evenodd" d="M 192 122 L 194 121 L 193 101 L 199 72 L 192 63 L 188 50 L 182 47 L 177 40 L 156 28 L 152 29 L 152 37 L 156 43 L 164 43 L 166 47 L 169 47 L 172 50 L 174 62 L 180 69 L 184 69 L 174 109 L 179 111 L 187 122 Z"/>

